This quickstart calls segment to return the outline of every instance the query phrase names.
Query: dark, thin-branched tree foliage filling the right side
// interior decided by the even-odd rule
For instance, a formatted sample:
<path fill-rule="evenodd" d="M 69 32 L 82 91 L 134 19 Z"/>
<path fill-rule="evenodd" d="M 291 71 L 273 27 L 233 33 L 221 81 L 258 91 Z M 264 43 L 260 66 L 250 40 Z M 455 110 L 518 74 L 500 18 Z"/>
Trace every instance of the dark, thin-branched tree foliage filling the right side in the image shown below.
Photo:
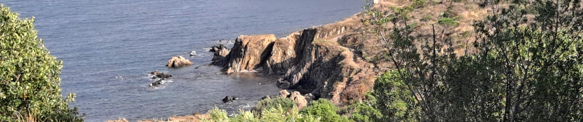
<path fill-rule="evenodd" d="M 513 4 L 476 21 L 465 54 L 433 25 L 430 38 L 412 36 L 407 12 L 365 5 L 394 69 L 375 83 L 378 121 L 583 121 L 581 1 L 526 4 L 536 14 Z"/>

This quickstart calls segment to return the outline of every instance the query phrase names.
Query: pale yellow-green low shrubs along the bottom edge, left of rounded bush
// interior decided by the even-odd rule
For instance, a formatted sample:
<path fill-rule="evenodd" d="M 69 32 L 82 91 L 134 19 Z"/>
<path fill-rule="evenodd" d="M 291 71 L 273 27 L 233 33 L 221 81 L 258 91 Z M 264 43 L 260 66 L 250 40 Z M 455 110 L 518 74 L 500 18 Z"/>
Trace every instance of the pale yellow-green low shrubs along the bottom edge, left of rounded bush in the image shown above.
<path fill-rule="evenodd" d="M 203 122 L 271 122 L 271 121 L 286 121 L 286 122 L 317 122 L 319 117 L 300 114 L 296 107 L 285 109 L 282 106 L 262 110 L 261 119 L 255 117 L 250 111 L 240 110 L 239 114 L 234 114 L 232 117 L 227 116 L 225 110 L 219 108 L 209 110 L 210 119 L 203 119 Z"/>

